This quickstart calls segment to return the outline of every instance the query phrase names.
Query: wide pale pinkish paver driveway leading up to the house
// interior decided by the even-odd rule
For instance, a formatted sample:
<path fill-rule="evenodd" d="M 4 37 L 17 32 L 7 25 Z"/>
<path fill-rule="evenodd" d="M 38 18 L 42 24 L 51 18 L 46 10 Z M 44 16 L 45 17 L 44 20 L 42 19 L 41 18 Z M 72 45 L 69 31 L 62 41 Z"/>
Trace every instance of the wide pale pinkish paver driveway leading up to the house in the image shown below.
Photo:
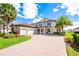
<path fill-rule="evenodd" d="M 66 56 L 63 37 L 33 35 L 32 39 L 0 50 L 4 56 Z"/>

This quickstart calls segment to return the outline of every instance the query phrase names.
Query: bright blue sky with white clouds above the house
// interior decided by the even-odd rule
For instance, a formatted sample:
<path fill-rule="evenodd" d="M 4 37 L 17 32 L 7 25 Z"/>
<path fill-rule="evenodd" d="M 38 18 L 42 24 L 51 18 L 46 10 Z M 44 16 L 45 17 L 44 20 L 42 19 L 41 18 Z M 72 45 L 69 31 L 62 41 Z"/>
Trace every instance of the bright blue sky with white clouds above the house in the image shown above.
<path fill-rule="evenodd" d="M 18 3 L 16 22 L 35 23 L 42 18 L 57 19 L 67 15 L 73 22 L 79 22 L 79 4 L 69 3 Z"/>

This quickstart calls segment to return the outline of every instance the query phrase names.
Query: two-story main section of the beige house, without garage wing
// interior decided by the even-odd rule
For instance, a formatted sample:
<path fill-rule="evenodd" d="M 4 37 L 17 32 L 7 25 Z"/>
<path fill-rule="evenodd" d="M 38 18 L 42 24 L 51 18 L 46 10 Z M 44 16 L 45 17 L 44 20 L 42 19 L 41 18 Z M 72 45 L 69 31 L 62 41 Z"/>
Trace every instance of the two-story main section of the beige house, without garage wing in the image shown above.
<path fill-rule="evenodd" d="M 33 23 L 35 34 L 54 34 L 56 21 L 43 18 L 40 22 Z"/>

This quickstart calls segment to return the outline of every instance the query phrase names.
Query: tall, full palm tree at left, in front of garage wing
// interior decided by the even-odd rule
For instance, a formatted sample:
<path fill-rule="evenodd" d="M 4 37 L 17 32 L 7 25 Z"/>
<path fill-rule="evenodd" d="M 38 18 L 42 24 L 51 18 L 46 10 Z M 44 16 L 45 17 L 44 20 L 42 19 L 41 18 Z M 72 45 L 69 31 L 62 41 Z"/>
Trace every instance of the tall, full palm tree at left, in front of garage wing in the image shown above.
<path fill-rule="evenodd" d="M 8 33 L 8 26 L 12 20 L 15 20 L 17 15 L 16 9 L 12 4 L 9 3 L 0 3 L 0 18 L 3 22 L 3 28 L 6 26 Z"/>

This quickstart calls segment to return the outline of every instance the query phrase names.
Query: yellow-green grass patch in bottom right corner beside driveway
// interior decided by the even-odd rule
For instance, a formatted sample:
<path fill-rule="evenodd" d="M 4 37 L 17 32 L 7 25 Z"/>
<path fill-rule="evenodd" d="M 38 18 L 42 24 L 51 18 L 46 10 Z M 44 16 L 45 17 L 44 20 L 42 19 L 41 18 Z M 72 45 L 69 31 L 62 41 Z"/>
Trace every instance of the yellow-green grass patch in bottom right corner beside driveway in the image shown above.
<path fill-rule="evenodd" d="M 66 46 L 68 56 L 79 56 L 79 49 Z"/>

